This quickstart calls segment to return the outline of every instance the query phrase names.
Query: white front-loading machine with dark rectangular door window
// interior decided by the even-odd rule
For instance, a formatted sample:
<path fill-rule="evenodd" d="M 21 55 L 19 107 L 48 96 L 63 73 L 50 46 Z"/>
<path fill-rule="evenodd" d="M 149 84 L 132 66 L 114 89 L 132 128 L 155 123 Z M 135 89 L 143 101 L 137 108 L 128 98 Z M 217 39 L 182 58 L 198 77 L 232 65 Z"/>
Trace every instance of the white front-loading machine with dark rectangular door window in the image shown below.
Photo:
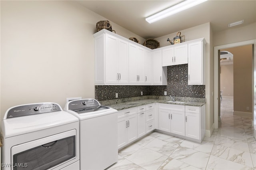
<path fill-rule="evenodd" d="M 8 109 L 1 123 L 2 169 L 79 170 L 79 120 L 57 103 Z"/>

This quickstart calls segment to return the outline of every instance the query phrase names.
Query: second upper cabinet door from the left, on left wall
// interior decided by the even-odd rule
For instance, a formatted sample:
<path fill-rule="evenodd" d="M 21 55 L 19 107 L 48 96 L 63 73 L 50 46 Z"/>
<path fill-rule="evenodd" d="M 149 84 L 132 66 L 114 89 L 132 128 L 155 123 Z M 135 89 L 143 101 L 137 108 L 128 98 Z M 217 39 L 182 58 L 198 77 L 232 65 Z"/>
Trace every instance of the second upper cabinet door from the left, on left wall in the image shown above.
<path fill-rule="evenodd" d="M 128 84 L 129 83 L 129 43 L 120 40 L 118 41 L 118 74 L 119 74 L 119 83 L 121 84 Z"/>

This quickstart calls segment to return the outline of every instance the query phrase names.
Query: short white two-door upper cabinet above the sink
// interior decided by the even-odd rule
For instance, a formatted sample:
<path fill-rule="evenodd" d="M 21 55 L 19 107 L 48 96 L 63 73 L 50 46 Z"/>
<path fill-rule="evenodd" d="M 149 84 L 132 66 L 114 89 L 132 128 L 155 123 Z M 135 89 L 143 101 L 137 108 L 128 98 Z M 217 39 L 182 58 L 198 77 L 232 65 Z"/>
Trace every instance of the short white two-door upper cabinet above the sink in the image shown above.
<path fill-rule="evenodd" d="M 162 66 L 188 63 L 188 44 L 162 49 Z"/>

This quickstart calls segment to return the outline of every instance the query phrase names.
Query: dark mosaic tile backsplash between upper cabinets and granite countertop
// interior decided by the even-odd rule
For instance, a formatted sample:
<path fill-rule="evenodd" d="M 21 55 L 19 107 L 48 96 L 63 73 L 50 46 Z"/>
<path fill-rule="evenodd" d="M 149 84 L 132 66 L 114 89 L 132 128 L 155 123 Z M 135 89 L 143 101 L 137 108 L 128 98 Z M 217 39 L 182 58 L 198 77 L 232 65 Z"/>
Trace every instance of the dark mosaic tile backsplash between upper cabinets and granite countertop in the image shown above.
<path fill-rule="evenodd" d="M 205 98 L 205 85 L 188 85 L 188 64 L 172 65 L 167 67 L 167 85 L 96 85 L 95 99 L 98 101 L 118 99 L 128 97 L 153 95 L 167 95 L 176 97 Z"/>

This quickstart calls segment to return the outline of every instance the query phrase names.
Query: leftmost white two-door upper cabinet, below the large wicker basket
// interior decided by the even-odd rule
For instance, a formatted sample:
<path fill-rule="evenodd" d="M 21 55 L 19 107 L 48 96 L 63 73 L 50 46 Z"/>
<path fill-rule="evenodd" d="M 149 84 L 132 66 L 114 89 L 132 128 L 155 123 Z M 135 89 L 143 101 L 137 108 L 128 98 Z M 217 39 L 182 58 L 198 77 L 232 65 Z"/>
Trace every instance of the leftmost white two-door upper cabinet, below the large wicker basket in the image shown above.
<path fill-rule="evenodd" d="M 95 37 L 95 84 L 128 84 L 128 42 L 110 34 Z"/>

